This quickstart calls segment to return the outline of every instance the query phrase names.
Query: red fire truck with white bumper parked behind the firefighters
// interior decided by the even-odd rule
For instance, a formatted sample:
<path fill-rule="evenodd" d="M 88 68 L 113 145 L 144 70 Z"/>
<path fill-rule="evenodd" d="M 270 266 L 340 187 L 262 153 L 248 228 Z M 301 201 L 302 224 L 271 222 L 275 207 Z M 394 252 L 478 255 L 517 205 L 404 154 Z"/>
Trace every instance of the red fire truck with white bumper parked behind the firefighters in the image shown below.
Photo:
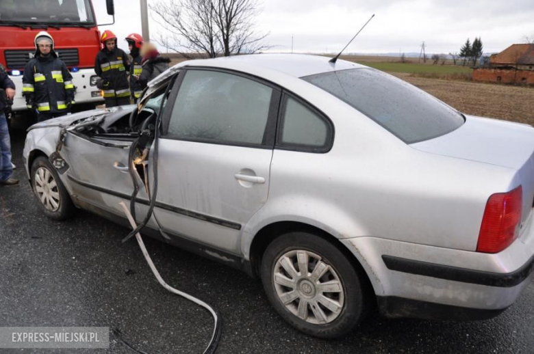
<path fill-rule="evenodd" d="M 105 1 L 107 13 L 114 15 L 113 0 Z M 40 31 L 51 34 L 55 52 L 73 75 L 76 105 L 102 102 L 94 73 L 100 31 L 91 0 L 0 0 L 0 64 L 16 85 L 12 110 L 26 109 L 22 75 L 34 57 L 34 39 Z"/>

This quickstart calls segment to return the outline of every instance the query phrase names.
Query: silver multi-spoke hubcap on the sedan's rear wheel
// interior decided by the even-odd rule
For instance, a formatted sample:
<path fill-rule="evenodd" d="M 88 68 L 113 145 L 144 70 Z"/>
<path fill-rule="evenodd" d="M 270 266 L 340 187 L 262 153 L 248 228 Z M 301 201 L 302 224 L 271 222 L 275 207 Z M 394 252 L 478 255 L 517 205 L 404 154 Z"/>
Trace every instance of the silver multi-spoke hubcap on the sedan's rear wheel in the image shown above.
<path fill-rule="evenodd" d="M 320 325 L 341 314 L 344 289 L 340 278 L 317 254 L 303 249 L 283 254 L 273 277 L 280 301 L 304 321 Z"/>

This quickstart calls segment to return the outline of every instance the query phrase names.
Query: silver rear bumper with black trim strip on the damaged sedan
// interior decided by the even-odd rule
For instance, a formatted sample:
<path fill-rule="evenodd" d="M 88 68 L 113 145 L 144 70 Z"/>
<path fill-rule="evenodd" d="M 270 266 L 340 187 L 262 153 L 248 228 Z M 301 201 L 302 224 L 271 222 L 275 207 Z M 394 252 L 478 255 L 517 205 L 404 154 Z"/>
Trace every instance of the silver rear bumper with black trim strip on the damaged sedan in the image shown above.
<path fill-rule="evenodd" d="M 498 254 L 373 237 L 342 243 L 364 267 L 388 317 L 491 318 L 516 301 L 534 276 L 533 217 Z"/>

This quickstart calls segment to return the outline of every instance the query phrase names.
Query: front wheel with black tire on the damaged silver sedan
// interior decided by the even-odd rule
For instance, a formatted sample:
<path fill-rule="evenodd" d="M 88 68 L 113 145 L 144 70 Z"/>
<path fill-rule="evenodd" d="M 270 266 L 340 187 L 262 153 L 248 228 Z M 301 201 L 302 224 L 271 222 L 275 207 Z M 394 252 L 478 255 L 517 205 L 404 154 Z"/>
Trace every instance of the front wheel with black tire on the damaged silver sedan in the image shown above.
<path fill-rule="evenodd" d="M 48 172 L 49 175 L 46 174 L 46 172 Z M 42 202 L 43 193 L 41 192 L 44 187 L 43 176 L 47 176 L 47 188 L 50 184 L 53 185 L 52 181 L 55 182 L 55 186 L 49 188 L 47 191 L 50 198 L 46 198 L 45 196 L 44 202 Z M 68 219 L 68 217 L 71 217 L 76 210 L 73 201 L 71 200 L 71 196 L 68 195 L 65 186 L 60 180 L 58 172 L 55 170 L 55 167 L 53 167 L 50 161 L 48 161 L 48 159 L 44 156 L 38 156 L 38 158 L 36 158 L 31 164 L 31 189 L 34 190 L 42 212 L 50 219 Z M 53 198 L 52 195 L 54 196 Z M 53 204 L 53 202 L 58 205 L 56 206 Z"/>

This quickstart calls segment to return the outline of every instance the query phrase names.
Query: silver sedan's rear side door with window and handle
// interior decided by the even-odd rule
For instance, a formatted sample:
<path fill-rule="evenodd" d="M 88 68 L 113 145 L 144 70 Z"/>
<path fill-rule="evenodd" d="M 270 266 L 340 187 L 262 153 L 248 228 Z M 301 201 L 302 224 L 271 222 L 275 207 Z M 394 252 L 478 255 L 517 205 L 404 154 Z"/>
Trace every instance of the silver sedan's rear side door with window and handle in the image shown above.
<path fill-rule="evenodd" d="M 162 230 L 233 254 L 266 203 L 281 93 L 235 72 L 188 69 L 159 141 Z"/>

